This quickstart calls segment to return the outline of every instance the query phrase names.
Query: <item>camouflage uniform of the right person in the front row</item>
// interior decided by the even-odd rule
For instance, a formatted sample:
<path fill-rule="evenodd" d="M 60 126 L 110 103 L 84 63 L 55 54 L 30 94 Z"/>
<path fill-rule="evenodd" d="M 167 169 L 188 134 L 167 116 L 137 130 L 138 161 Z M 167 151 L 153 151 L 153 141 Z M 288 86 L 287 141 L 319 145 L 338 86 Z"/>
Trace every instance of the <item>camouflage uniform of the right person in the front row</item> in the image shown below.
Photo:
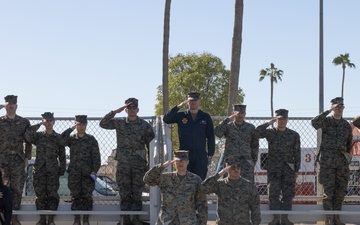
<path fill-rule="evenodd" d="M 207 178 L 200 190 L 206 194 L 215 193 L 218 197 L 216 224 L 260 224 L 260 197 L 257 188 L 249 180 L 220 179 L 217 173 Z"/>

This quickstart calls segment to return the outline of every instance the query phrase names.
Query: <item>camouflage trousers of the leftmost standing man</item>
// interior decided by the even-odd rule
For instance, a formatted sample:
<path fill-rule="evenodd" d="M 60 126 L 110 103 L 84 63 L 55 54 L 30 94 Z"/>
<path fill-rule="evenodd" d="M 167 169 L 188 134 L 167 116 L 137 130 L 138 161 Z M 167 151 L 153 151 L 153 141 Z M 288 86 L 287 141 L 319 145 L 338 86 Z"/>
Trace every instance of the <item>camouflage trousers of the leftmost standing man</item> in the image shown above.
<path fill-rule="evenodd" d="M 3 179 L 8 181 L 12 193 L 13 209 L 19 210 L 26 178 L 25 162 L 19 155 L 11 154 L 1 166 L 4 169 Z"/>

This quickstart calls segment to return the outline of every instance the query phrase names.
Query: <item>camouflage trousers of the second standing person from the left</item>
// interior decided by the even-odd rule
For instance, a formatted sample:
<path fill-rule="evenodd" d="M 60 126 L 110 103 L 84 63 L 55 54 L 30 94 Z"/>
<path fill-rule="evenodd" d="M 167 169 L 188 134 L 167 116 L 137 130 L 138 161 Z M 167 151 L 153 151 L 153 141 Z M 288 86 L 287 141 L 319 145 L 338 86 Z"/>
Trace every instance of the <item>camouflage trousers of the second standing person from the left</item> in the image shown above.
<path fill-rule="evenodd" d="M 45 169 L 34 170 L 34 190 L 36 194 L 36 209 L 57 210 L 59 205 L 59 173 L 56 171 L 46 172 Z"/>

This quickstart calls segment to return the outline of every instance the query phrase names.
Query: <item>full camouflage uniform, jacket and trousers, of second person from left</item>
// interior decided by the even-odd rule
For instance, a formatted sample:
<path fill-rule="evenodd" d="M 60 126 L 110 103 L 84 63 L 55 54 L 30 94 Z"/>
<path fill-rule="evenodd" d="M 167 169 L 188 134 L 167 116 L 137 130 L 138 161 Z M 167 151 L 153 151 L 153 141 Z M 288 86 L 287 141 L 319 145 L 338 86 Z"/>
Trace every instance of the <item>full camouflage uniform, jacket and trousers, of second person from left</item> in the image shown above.
<path fill-rule="evenodd" d="M 53 131 L 37 130 L 41 124 L 31 126 L 25 138 L 36 145 L 36 161 L 34 164 L 34 190 L 36 209 L 57 210 L 59 205 L 59 177 L 65 173 L 65 141 L 60 134 Z"/>

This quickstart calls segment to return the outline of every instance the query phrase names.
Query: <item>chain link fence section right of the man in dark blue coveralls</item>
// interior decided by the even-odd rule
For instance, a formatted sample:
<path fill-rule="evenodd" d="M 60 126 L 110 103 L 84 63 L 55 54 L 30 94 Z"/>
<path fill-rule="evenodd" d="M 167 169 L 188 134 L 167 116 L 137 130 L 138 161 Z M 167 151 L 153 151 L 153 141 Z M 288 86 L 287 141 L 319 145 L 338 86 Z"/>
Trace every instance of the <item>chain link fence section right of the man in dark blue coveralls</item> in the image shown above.
<path fill-rule="evenodd" d="M 225 117 L 213 117 L 214 124 L 217 125 Z M 246 121 L 255 125 L 255 127 L 268 122 L 270 117 L 247 117 Z M 293 117 L 289 118 L 287 127 L 298 132 L 301 141 L 301 168 L 296 179 L 296 196 L 320 196 L 322 189 L 318 188 L 317 183 L 317 167 L 316 155 L 318 146 L 317 130 L 311 125 L 310 117 Z M 345 118 L 349 122 L 350 118 Z M 276 124 L 275 124 L 276 125 Z M 356 129 L 356 128 L 355 128 Z M 354 137 L 356 140 L 356 137 Z M 217 153 L 222 151 L 222 145 L 225 143 L 225 138 L 216 138 L 218 147 Z M 266 196 L 268 194 L 267 171 L 264 170 L 264 162 L 267 158 L 268 144 L 266 139 L 259 140 L 259 157 L 255 166 L 255 185 L 259 189 L 260 195 Z M 214 157 L 214 164 L 210 167 L 210 174 L 216 170 L 219 156 Z M 350 180 L 348 184 L 348 196 L 358 196 L 360 193 L 360 156 L 353 155 L 350 164 Z M 307 203 L 304 201 L 297 201 L 298 203 Z"/>

